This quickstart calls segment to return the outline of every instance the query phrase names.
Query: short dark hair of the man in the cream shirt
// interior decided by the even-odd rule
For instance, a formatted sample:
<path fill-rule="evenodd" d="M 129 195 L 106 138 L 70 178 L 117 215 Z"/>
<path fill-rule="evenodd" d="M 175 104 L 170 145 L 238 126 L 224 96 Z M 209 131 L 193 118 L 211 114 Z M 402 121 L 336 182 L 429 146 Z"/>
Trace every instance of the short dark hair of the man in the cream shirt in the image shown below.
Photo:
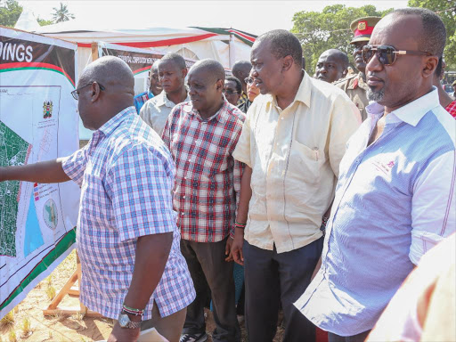
<path fill-rule="evenodd" d="M 299 39 L 286 29 L 273 29 L 256 38 L 256 42 L 270 42 L 271 51 L 275 58 L 283 58 L 290 55 L 295 64 L 302 67 L 303 48 Z"/>

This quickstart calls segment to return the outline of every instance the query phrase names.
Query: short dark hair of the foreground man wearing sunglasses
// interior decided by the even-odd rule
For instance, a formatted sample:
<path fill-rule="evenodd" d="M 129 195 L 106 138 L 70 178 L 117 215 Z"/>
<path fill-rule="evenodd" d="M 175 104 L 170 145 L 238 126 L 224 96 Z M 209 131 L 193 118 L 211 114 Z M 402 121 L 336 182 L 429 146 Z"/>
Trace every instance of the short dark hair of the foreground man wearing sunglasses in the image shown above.
<path fill-rule="evenodd" d="M 444 21 L 435 13 L 426 8 L 400 8 L 391 12 L 394 15 L 417 15 L 421 18 L 423 32 L 419 35 L 419 50 L 432 53 L 437 57 L 444 54 L 446 28 Z"/>

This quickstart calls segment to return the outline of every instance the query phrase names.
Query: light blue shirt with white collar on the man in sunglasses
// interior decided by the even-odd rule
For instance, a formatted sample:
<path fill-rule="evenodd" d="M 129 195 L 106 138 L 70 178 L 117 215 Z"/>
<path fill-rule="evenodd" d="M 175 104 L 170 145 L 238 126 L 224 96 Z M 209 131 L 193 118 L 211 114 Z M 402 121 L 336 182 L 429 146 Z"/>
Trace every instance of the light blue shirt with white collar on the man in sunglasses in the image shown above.
<path fill-rule="evenodd" d="M 436 88 L 389 113 L 384 107 L 347 143 L 326 229 L 322 267 L 295 305 L 322 330 L 371 330 L 413 265 L 456 229 L 456 121 Z"/>

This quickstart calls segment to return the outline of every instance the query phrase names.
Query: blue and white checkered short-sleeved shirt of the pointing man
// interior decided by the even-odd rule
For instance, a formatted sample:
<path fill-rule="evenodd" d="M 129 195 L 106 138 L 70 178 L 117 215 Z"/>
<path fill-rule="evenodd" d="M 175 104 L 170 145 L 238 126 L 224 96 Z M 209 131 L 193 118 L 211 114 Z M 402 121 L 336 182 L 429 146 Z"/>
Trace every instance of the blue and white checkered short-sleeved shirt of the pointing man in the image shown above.
<path fill-rule="evenodd" d="M 81 186 L 77 250 L 82 303 L 105 317 L 118 318 L 132 280 L 136 240 L 173 232 L 165 272 L 143 319 L 151 319 L 154 300 L 162 317 L 189 305 L 195 291 L 175 224 L 174 162 L 134 107 L 95 131 L 83 149 L 63 159 L 62 167 Z"/>

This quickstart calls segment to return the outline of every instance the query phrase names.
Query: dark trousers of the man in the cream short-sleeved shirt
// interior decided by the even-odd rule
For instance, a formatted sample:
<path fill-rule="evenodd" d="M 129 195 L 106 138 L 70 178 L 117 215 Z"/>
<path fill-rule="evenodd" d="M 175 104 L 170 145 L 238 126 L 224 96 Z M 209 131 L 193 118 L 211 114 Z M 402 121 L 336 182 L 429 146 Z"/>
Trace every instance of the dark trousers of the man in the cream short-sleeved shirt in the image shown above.
<path fill-rule="evenodd" d="M 293 305 L 310 283 L 322 255 L 323 238 L 289 252 L 257 248 L 244 241 L 246 327 L 250 342 L 269 342 L 277 330 L 281 302 L 283 341 L 315 340 L 315 326 Z"/>

